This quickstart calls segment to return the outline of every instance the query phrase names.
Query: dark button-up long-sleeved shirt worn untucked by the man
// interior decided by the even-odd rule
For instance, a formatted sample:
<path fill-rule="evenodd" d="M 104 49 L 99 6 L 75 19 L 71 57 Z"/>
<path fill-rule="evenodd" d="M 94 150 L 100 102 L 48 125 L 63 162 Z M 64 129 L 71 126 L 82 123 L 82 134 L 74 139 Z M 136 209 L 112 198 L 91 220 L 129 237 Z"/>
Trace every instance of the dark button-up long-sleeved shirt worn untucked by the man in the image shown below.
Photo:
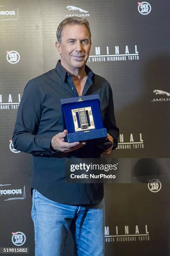
<path fill-rule="evenodd" d="M 87 81 L 82 96 L 99 94 L 103 125 L 117 147 L 119 130 L 115 124 L 110 84 L 85 66 Z M 55 69 L 31 79 L 23 92 L 13 134 L 17 150 L 32 154 L 32 188 L 55 202 L 70 205 L 96 204 L 103 198 L 103 184 L 65 182 L 65 157 L 98 158 L 95 143 L 63 153 L 52 151 L 53 136 L 63 131 L 60 99 L 78 97 L 73 77 L 57 62 Z"/>

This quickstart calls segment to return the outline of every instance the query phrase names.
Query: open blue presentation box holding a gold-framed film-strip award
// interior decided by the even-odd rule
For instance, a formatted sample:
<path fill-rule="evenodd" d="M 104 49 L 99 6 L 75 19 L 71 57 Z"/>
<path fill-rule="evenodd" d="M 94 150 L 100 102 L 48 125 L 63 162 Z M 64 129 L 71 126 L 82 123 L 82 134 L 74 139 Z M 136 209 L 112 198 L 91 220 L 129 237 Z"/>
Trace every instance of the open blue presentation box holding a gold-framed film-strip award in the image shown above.
<path fill-rule="evenodd" d="M 66 141 L 96 140 L 102 143 L 107 138 L 100 113 L 98 94 L 61 99 L 64 129 L 68 131 Z"/>

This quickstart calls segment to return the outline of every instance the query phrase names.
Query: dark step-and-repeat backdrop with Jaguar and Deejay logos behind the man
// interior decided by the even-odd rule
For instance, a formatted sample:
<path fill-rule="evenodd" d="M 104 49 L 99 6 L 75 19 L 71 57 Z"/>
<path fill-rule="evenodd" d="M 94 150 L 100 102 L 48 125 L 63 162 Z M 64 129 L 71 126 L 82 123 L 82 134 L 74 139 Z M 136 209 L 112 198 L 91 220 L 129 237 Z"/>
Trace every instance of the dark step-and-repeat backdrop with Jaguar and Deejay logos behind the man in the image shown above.
<path fill-rule="evenodd" d="M 78 16 L 90 23 L 87 65 L 110 82 L 120 128 L 109 156 L 119 184 L 105 184 L 105 255 L 170 255 L 168 10 L 168 0 L 0 0 L 1 247 L 34 256 L 31 155 L 15 150 L 13 128 L 25 84 L 60 59 L 57 26 Z M 65 256 L 72 251 L 68 237 Z"/>

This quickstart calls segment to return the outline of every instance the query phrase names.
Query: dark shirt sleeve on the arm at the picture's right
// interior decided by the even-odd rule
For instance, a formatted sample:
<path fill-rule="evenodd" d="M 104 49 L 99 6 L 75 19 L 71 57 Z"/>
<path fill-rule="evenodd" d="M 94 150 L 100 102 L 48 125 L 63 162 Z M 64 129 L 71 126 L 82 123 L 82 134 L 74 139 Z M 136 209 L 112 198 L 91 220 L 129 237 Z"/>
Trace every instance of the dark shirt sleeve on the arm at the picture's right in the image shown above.
<path fill-rule="evenodd" d="M 112 96 L 112 88 L 110 84 L 108 84 L 108 98 L 109 105 L 107 107 L 105 113 L 104 127 L 107 128 L 107 133 L 109 133 L 113 137 L 113 149 L 117 148 L 117 142 L 119 137 L 119 129 L 116 126 L 115 122 L 115 112 L 114 112 L 114 104 L 113 104 L 113 96 Z"/>

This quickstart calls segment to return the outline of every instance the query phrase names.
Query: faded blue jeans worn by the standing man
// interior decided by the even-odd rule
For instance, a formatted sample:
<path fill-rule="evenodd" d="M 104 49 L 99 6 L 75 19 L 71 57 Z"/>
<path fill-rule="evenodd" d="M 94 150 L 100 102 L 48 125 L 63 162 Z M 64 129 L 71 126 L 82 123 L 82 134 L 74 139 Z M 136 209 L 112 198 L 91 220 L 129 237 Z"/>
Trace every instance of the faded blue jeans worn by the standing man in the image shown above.
<path fill-rule="evenodd" d="M 35 256 L 62 256 L 70 230 L 78 256 L 104 256 L 104 199 L 87 207 L 54 202 L 32 193 Z M 69 255 L 71 256 L 71 255 Z"/>

